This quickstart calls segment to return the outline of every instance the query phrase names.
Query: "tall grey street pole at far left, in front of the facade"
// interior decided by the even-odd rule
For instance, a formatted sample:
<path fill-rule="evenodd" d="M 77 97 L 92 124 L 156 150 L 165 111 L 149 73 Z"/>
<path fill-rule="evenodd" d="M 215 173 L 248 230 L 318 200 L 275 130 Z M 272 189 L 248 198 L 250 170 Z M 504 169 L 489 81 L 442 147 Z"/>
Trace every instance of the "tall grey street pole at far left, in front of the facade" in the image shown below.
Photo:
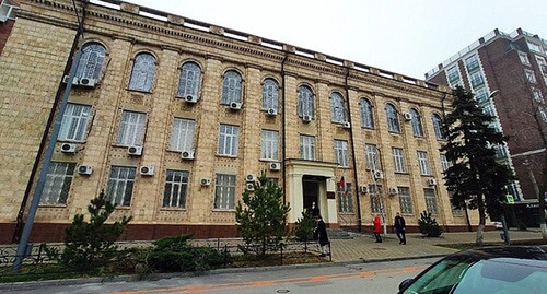
<path fill-rule="evenodd" d="M 78 9 L 75 7 L 75 2 L 74 2 L 74 0 L 72 0 L 72 4 L 74 5 L 74 11 L 75 11 L 77 17 L 78 17 L 78 32 L 77 32 L 77 35 L 74 38 L 74 42 L 77 43 L 77 45 L 79 45 L 78 44 L 79 39 L 83 35 L 83 19 L 85 16 L 85 4 L 88 3 L 88 1 L 82 0 L 81 2 L 82 2 L 82 19 L 80 20 L 80 15 L 78 15 Z M 74 45 L 74 44 L 72 44 L 72 45 Z M 70 64 L 69 80 L 67 83 L 67 87 L 65 89 L 65 92 L 62 93 L 62 97 L 60 97 L 60 96 L 56 97 L 56 101 L 57 101 L 56 105 L 59 105 L 58 114 L 55 115 L 56 108 L 55 107 L 51 108 L 51 113 L 54 113 L 53 116 L 55 117 L 55 120 L 53 124 L 53 130 L 51 130 L 49 140 L 47 140 L 47 136 L 45 136 L 46 141 L 47 141 L 46 142 L 47 149 L 44 152 L 44 160 L 43 160 L 42 168 L 39 172 L 38 180 L 36 183 L 36 187 L 34 188 L 34 193 L 33 193 L 31 207 L 28 208 L 26 222 L 25 222 L 23 231 L 21 233 L 21 239 L 19 240 L 18 251 L 16 251 L 15 258 L 13 260 L 13 272 L 14 273 L 18 273 L 21 270 L 21 266 L 23 263 L 23 258 L 25 257 L 25 255 L 28 250 L 28 239 L 31 237 L 31 232 L 32 232 L 32 228 L 34 225 L 34 217 L 36 216 L 36 212 L 37 212 L 38 205 L 39 205 L 39 200 L 42 198 L 42 193 L 44 191 L 44 187 L 46 184 L 47 169 L 49 167 L 49 164 L 51 162 L 51 157 L 54 154 L 54 149 L 55 149 L 55 144 L 57 141 L 57 136 L 59 134 L 60 125 L 62 121 L 62 115 L 65 113 L 65 108 L 67 107 L 68 97 L 70 95 L 70 90 L 72 87 L 72 80 L 75 77 L 75 71 L 78 70 L 80 57 L 82 56 L 82 47 L 81 46 L 79 46 L 79 47 L 80 47 L 80 49 L 77 51 L 72 64 Z M 67 61 L 67 66 L 69 66 L 68 63 L 71 63 L 70 57 Z M 61 91 L 61 87 L 62 87 L 62 83 L 59 84 L 58 93 Z M 50 113 L 50 117 L 51 117 L 51 113 Z M 47 134 L 48 129 L 45 129 L 44 133 Z M 44 144 L 46 144 L 46 143 L 44 143 Z M 40 146 L 42 146 L 42 143 L 40 143 Z M 40 156 L 38 155 L 36 162 L 39 162 L 39 158 L 40 158 Z M 24 200 L 26 202 L 27 196 L 25 198 L 26 199 L 24 199 Z M 24 207 L 23 207 L 23 210 L 24 210 Z"/>

